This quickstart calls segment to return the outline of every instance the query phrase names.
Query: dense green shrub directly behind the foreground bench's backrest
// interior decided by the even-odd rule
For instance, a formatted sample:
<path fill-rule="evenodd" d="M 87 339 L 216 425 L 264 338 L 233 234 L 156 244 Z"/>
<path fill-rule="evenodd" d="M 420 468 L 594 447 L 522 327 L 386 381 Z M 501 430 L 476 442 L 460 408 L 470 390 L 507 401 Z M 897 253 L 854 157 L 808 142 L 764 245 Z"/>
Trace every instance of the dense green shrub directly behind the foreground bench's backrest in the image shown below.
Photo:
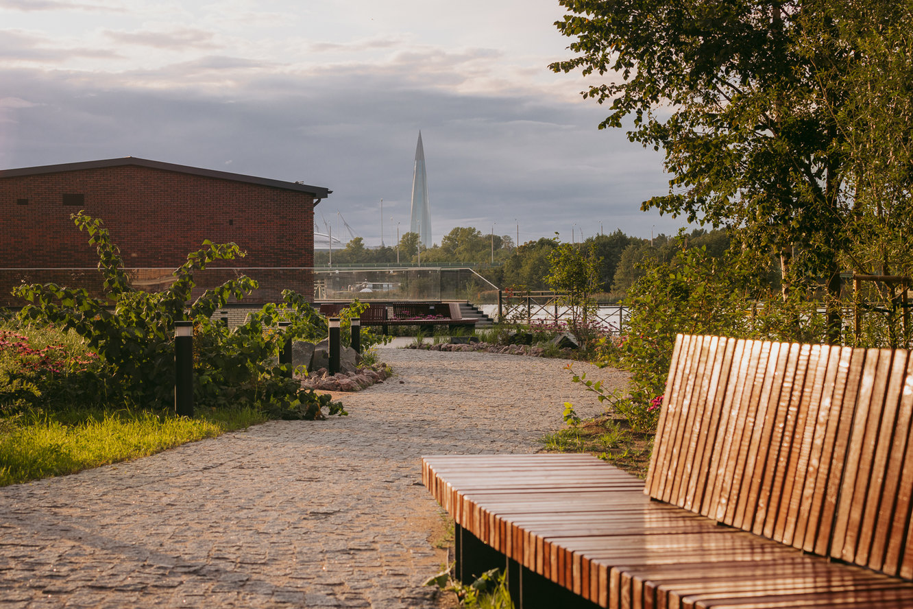
<path fill-rule="evenodd" d="M 680 248 L 672 261 L 647 268 L 625 299 L 631 309 L 627 334 L 617 345 L 603 342 L 603 363 L 631 372 L 630 401 L 615 408 L 637 425 L 656 424 L 678 333 L 820 340 L 824 318 L 813 301 L 793 291 L 784 302 L 763 272 L 763 262 L 751 252 L 711 257 L 704 247 Z"/>

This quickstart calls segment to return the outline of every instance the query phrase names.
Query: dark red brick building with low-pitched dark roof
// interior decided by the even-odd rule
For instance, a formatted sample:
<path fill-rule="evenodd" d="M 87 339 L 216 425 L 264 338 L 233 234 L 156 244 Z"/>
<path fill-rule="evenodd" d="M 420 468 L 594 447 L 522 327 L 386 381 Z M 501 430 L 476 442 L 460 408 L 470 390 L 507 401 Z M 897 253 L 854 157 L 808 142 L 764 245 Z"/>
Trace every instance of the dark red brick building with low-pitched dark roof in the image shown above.
<path fill-rule="evenodd" d="M 167 285 L 187 253 L 235 242 L 247 257 L 218 260 L 197 276 L 205 289 L 244 273 L 260 289 L 244 304 L 313 298 L 314 206 L 332 191 L 293 182 L 133 157 L 0 171 L 0 306 L 20 281 L 97 291 L 89 236 L 70 215 L 104 221 L 135 285 Z"/>

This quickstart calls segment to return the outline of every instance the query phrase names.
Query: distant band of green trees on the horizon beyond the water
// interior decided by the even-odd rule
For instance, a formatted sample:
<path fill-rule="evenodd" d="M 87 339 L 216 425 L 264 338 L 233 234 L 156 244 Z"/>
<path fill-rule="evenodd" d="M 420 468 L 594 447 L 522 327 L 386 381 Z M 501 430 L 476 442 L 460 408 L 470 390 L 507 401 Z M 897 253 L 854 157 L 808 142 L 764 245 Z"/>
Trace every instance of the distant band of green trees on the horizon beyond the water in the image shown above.
<path fill-rule="evenodd" d="M 421 265 L 452 266 L 465 264 L 502 289 L 549 289 L 545 277 L 549 272 L 549 254 L 557 247 L 556 239 L 540 238 L 517 247 L 508 235 L 487 235 L 477 228 L 457 226 L 441 239 L 440 245 L 422 247 Z M 577 244 L 593 248 L 602 258 L 602 289 L 611 298 L 622 298 L 632 284 L 644 274 L 643 268 L 654 263 L 668 262 L 679 247 L 706 247 L 709 255 L 719 257 L 729 249 L 729 234 L 725 229 L 707 231 L 701 228 L 684 233 L 681 245 L 673 236 L 658 235 L 653 239 L 627 236 L 621 230 L 609 235 L 592 236 Z M 332 252 L 333 265 L 412 264 L 419 263 L 418 235 L 406 233 L 393 247 L 369 249 L 362 237 L 355 237 Z M 317 251 L 315 264 L 330 263 L 329 251 Z"/>

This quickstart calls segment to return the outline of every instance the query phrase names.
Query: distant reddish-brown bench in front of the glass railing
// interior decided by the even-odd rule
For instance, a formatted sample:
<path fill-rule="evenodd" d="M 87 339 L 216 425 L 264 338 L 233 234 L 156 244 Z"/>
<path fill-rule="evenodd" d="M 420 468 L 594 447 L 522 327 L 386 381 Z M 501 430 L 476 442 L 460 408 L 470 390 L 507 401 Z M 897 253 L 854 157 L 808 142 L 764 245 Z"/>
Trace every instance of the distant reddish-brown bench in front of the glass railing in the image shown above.
<path fill-rule="evenodd" d="M 348 302 L 324 302 L 320 314 L 327 317 L 339 315 L 349 306 Z M 362 326 L 383 326 L 389 333 L 390 326 L 418 326 L 423 331 L 433 331 L 435 326 L 446 325 L 449 331 L 456 328 L 476 327 L 477 320 L 464 319 L 456 302 L 369 302 L 361 315 Z"/>

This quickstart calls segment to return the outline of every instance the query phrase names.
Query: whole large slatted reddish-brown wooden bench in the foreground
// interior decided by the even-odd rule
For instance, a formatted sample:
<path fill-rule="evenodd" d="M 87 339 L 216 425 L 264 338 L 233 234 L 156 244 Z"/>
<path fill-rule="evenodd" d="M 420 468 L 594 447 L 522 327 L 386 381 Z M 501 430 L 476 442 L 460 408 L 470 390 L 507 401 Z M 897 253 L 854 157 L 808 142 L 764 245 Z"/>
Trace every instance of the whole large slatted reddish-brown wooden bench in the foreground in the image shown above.
<path fill-rule="evenodd" d="M 518 607 L 913 607 L 913 358 L 679 336 L 645 483 L 582 455 L 423 459 L 456 576 Z"/>

